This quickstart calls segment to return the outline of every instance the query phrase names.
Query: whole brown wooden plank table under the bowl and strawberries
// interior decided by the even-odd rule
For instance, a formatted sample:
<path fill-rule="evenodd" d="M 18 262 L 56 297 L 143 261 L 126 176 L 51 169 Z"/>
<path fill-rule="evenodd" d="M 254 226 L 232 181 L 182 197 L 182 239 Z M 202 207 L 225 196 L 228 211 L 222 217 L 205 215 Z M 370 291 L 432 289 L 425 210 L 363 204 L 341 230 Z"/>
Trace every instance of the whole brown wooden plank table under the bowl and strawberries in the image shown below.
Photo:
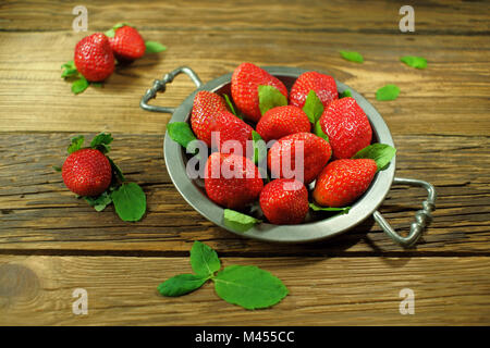
<path fill-rule="evenodd" d="M 74 33 L 72 9 L 88 9 Z M 0 323 L 41 325 L 412 325 L 490 324 L 489 20 L 485 2 L 417 3 L 415 33 L 401 33 L 403 2 L 381 1 L 4 1 L 0 4 Z M 60 65 L 75 44 L 128 22 L 168 51 L 118 69 L 103 88 L 73 96 Z M 343 60 L 356 50 L 365 63 Z M 426 70 L 400 62 L 427 58 Z M 207 82 L 241 62 L 318 69 L 363 94 L 388 123 L 396 175 L 432 183 L 433 222 L 408 250 L 367 220 L 331 240 L 277 245 L 241 238 L 194 211 L 167 173 L 167 114 L 139 109 L 155 78 L 181 65 Z M 377 101 L 384 84 L 395 101 Z M 179 105 L 194 89 L 179 77 L 154 102 Z M 112 159 L 143 186 L 148 212 L 124 223 L 113 207 L 75 199 L 52 165 L 70 138 L 110 132 Z M 393 187 L 381 213 L 407 232 L 425 199 Z M 247 311 L 220 300 L 211 284 L 163 298 L 157 285 L 191 272 L 194 240 L 224 265 L 254 264 L 291 294 Z M 74 289 L 88 314 L 72 312 Z M 400 291 L 415 295 L 402 315 Z"/>

